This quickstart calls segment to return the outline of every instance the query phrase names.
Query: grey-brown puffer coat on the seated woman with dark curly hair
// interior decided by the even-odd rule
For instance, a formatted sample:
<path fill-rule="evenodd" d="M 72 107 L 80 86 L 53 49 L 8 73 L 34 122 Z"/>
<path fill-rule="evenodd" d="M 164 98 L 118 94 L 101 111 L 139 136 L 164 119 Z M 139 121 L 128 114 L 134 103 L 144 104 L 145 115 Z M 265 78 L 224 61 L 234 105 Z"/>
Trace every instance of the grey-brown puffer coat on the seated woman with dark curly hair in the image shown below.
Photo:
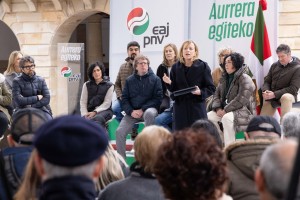
<path fill-rule="evenodd" d="M 227 74 L 223 74 L 212 103 L 212 109 L 215 111 L 222 108 L 226 113 L 233 112 L 236 132 L 245 131 L 249 121 L 256 115 L 255 85 L 246 71 L 247 66 L 244 65 L 235 72 L 227 95 L 225 94 Z M 227 101 L 225 105 L 224 100 Z"/>

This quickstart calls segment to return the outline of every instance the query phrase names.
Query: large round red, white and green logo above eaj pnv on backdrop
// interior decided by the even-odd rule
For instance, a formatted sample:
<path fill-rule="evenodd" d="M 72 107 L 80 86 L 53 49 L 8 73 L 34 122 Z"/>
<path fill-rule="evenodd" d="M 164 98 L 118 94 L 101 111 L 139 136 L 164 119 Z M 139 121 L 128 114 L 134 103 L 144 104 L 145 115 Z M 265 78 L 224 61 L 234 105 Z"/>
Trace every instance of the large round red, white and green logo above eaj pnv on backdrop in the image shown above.
<path fill-rule="evenodd" d="M 144 8 L 134 8 L 127 17 L 127 28 L 134 35 L 145 33 L 149 26 L 149 15 Z"/>

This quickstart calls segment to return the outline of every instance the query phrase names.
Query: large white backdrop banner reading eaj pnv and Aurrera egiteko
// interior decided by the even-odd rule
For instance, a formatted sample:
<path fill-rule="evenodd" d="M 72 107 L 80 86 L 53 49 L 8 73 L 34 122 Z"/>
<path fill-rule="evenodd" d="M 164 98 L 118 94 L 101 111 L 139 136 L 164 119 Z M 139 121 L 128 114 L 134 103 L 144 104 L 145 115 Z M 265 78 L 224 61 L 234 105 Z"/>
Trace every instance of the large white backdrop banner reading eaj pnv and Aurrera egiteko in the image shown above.
<path fill-rule="evenodd" d="M 267 0 L 264 11 L 272 55 L 276 60 L 278 1 Z M 194 40 L 200 59 L 211 69 L 218 66 L 219 48 L 230 46 L 247 63 L 259 0 L 111 0 L 110 77 L 114 82 L 127 57 L 127 43 L 135 40 L 150 58 L 156 73 L 163 47 Z"/>

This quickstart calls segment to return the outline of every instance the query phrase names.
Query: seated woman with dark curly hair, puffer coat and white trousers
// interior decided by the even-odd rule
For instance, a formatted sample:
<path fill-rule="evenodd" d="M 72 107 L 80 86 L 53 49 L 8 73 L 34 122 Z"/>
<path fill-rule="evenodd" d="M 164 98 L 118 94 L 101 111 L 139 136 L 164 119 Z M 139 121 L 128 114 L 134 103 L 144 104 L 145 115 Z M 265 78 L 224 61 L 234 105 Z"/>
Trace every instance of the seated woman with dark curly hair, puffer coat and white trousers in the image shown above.
<path fill-rule="evenodd" d="M 207 116 L 224 136 L 224 144 L 228 146 L 235 141 L 235 133 L 245 131 L 256 115 L 255 85 L 246 74 L 248 67 L 241 54 L 232 53 L 224 61 L 225 72 L 216 89 L 212 111 Z"/>

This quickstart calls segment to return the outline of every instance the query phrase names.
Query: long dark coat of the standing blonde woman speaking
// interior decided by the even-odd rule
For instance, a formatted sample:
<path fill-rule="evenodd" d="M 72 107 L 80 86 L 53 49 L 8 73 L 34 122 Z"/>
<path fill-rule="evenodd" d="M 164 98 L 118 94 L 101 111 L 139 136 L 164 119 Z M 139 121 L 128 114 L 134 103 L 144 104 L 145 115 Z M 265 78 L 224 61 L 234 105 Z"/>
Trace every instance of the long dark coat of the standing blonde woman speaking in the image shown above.
<path fill-rule="evenodd" d="M 197 59 L 191 67 L 186 67 L 178 61 L 171 69 L 170 78 L 172 83 L 167 87 L 171 92 L 193 86 L 201 90 L 201 95 L 188 93 L 174 98 L 175 130 L 189 127 L 198 119 L 207 119 L 205 99 L 215 92 L 207 63 Z"/>

